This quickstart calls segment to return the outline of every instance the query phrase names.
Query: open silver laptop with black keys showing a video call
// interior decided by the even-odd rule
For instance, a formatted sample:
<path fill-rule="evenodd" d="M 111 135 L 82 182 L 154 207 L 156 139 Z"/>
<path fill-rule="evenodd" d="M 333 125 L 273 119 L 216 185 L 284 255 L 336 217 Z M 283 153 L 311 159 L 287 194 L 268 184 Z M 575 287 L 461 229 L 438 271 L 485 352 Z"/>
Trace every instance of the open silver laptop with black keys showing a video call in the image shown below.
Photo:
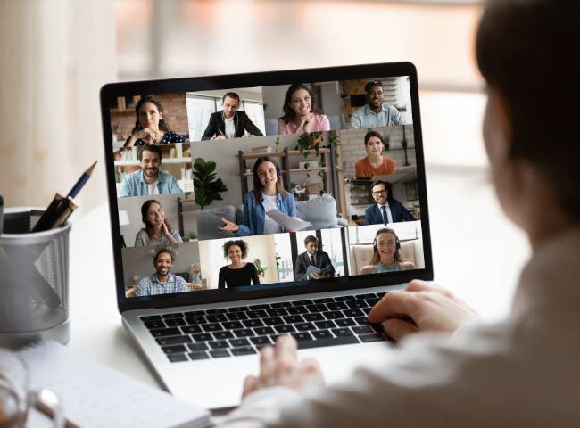
<path fill-rule="evenodd" d="M 100 99 L 120 316 L 168 391 L 236 406 L 280 334 L 328 383 L 384 355 L 366 314 L 433 279 L 410 62 L 113 83 Z"/>

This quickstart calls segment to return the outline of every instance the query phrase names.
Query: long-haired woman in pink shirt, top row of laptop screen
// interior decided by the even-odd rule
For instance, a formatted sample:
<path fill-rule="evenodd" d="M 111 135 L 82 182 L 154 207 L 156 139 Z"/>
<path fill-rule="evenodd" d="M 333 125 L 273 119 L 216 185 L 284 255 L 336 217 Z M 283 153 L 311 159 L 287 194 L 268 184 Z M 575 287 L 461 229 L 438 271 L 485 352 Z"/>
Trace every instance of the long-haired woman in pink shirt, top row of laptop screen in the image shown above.
<path fill-rule="evenodd" d="M 282 110 L 284 116 L 278 119 L 278 134 L 330 130 L 327 116 L 316 106 L 314 94 L 303 83 L 288 87 Z"/>

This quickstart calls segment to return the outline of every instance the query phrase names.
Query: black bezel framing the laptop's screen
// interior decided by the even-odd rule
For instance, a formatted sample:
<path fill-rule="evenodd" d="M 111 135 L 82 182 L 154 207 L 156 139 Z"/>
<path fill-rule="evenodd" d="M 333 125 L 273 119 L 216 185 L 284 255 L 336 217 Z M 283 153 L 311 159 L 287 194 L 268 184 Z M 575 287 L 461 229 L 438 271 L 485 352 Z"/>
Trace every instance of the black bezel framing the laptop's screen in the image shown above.
<path fill-rule="evenodd" d="M 145 298 L 125 297 L 125 284 L 121 255 L 120 224 L 117 191 L 115 185 L 114 159 L 110 101 L 114 97 L 141 94 L 174 94 L 204 90 L 229 89 L 233 87 L 254 87 L 288 85 L 294 82 L 327 82 L 357 78 L 397 77 L 410 78 L 410 99 L 412 107 L 413 134 L 417 163 L 419 206 L 421 208 L 421 230 L 425 268 L 410 271 L 372 274 L 363 276 L 343 276 L 319 281 L 294 282 L 294 285 L 268 284 L 267 287 L 243 287 L 244 290 L 208 290 L 184 292 L 170 295 L 156 295 Z M 104 158 L 111 220 L 112 251 L 115 268 L 117 303 L 120 312 L 130 309 L 170 308 L 235 300 L 251 300 L 267 297 L 291 296 L 314 292 L 344 291 L 374 286 L 395 285 L 411 279 L 432 280 L 434 276 L 431 248 L 431 234 L 427 207 L 427 179 L 423 152 L 423 138 L 418 101 L 418 78 L 415 66 L 410 62 L 388 62 L 319 69 L 278 70 L 197 78 L 172 78 L 120 82 L 104 85 L 100 92 L 101 118 L 103 124 Z M 191 142 L 195 144 L 196 142 Z"/>

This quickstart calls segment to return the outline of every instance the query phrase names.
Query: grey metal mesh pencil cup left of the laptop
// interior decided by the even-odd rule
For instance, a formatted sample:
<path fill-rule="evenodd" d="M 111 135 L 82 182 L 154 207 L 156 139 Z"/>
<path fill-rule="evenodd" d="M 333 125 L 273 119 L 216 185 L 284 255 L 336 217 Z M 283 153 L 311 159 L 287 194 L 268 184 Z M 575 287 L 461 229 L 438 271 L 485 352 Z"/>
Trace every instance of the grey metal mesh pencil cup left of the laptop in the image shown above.
<path fill-rule="evenodd" d="M 30 233 L 44 210 L 4 210 L 0 236 L 0 346 L 70 340 L 70 222 Z"/>

